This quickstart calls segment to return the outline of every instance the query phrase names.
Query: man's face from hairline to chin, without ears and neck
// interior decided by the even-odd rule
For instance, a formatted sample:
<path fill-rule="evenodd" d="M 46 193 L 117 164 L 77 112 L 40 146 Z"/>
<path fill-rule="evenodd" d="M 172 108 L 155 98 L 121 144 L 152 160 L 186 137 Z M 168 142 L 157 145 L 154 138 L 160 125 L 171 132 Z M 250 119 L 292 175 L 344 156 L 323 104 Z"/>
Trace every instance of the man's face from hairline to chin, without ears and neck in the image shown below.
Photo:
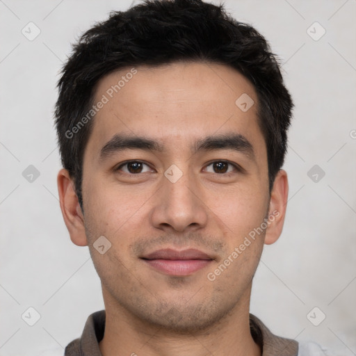
<path fill-rule="evenodd" d="M 246 307 L 266 230 L 248 236 L 270 207 L 252 84 L 225 65 L 136 67 L 104 77 L 99 101 L 83 222 L 106 307 L 185 331 Z"/>

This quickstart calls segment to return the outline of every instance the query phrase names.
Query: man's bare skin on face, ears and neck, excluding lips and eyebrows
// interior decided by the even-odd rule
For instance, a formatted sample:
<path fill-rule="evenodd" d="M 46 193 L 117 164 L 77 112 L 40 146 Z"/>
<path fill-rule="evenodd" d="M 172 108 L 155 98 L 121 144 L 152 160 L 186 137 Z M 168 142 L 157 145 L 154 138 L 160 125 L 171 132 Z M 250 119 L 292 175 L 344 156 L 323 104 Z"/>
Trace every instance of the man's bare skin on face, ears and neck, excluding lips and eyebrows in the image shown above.
<path fill-rule="evenodd" d="M 105 76 L 95 102 L 129 72 Z M 236 70 L 212 63 L 137 67 L 97 113 L 83 159 L 83 211 L 67 170 L 58 173 L 60 207 L 70 238 L 88 245 L 102 281 L 106 329 L 102 355 L 261 355 L 250 334 L 252 277 L 265 244 L 282 232 L 288 195 L 280 170 L 268 191 L 266 143 L 257 123 L 257 95 Z M 235 101 L 247 93 L 254 105 L 243 112 Z M 126 149 L 100 161 L 115 133 L 145 136 L 163 152 Z M 254 157 L 233 149 L 193 152 L 196 140 L 218 134 L 243 135 Z M 145 164 L 124 165 L 129 160 Z M 214 168 L 216 161 L 239 165 Z M 172 183 L 164 172 L 182 172 Z M 211 281 L 245 236 L 278 211 L 267 229 Z M 106 236 L 111 248 L 93 243 Z M 196 248 L 213 261 L 191 275 L 166 275 L 139 257 L 161 248 Z"/>

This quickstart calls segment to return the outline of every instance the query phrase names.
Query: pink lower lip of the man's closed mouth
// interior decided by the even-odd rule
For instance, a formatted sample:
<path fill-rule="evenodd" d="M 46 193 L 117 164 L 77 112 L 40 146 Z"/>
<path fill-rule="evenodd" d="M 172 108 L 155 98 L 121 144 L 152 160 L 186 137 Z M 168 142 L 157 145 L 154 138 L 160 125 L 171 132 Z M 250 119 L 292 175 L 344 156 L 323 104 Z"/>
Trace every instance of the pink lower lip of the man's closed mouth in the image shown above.
<path fill-rule="evenodd" d="M 208 264 L 211 259 L 145 259 L 149 266 L 168 275 L 191 275 Z"/>

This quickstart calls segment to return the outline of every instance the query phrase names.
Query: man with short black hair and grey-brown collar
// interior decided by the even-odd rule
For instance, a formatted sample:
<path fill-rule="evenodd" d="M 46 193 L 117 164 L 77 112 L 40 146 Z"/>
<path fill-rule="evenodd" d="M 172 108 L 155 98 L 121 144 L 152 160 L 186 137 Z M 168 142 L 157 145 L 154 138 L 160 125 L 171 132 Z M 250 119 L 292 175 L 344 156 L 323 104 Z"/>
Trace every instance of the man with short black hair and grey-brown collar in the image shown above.
<path fill-rule="evenodd" d="M 105 304 L 65 355 L 298 355 L 249 314 L 288 196 L 266 40 L 223 6 L 146 1 L 87 31 L 58 88 L 60 208 Z"/>

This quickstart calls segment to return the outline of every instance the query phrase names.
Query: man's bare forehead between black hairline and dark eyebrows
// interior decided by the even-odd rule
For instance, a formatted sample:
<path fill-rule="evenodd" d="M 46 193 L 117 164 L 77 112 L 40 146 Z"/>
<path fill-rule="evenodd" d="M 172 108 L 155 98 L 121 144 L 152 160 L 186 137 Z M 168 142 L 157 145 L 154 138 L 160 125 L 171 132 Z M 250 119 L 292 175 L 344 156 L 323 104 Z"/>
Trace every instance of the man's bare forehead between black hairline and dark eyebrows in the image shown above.
<path fill-rule="evenodd" d="M 182 148 L 184 140 L 193 143 L 232 131 L 250 137 L 253 145 L 264 145 L 254 87 L 227 65 L 180 62 L 127 67 L 99 81 L 94 104 L 99 102 L 105 104 L 93 122 L 88 142 L 92 154 L 115 133 L 147 136 L 167 149 L 177 149 L 178 142 Z"/>

